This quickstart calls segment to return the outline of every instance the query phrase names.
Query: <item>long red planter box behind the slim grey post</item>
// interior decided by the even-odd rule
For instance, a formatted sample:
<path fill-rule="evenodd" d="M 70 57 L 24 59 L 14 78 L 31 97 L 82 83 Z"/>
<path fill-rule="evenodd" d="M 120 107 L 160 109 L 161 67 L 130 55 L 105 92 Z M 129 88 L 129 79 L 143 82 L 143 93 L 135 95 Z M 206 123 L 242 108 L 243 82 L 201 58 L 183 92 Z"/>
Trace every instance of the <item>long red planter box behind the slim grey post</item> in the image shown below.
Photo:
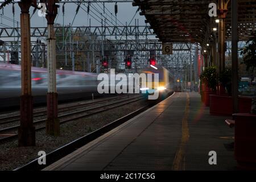
<path fill-rule="evenodd" d="M 251 98 L 238 97 L 239 113 L 250 113 Z M 213 115 L 232 115 L 232 97 L 210 95 L 210 114 Z"/>

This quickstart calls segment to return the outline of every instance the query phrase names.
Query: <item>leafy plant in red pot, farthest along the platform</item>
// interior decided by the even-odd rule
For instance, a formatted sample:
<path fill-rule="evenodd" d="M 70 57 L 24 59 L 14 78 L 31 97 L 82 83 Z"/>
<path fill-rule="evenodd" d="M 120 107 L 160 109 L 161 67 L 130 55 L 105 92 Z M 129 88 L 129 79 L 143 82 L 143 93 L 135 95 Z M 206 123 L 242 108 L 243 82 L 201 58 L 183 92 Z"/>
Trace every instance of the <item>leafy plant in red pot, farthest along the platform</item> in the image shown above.
<path fill-rule="evenodd" d="M 216 67 L 207 67 L 200 75 L 200 80 L 202 81 L 203 92 L 201 96 L 203 96 L 203 102 L 205 106 L 210 105 L 210 94 L 216 93 Z"/>

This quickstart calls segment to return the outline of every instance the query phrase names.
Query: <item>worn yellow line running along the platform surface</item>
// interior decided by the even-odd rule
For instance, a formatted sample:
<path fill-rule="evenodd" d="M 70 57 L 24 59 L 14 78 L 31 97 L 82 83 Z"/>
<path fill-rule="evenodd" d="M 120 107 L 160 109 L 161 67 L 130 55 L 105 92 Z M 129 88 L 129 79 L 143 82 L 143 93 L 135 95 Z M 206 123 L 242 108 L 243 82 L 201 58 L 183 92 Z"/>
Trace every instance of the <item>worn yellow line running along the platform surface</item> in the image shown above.
<path fill-rule="evenodd" d="M 185 170 L 185 146 L 189 139 L 188 129 L 188 115 L 189 115 L 189 95 L 187 95 L 187 101 L 185 106 L 184 117 L 182 119 L 182 137 L 179 148 L 177 148 L 174 162 L 172 163 L 173 170 Z"/>

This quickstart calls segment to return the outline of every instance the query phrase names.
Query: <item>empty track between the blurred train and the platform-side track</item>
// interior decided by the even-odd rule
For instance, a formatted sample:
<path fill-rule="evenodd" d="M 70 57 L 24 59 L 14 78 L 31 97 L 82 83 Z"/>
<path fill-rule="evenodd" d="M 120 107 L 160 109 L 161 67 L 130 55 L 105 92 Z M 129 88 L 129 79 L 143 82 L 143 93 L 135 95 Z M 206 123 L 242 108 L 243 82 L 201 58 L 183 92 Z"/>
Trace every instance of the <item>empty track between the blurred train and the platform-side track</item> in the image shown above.
<path fill-rule="evenodd" d="M 144 98 L 143 96 L 133 96 L 133 97 L 130 97 L 127 99 L 127 96 L 126 96 L 125 98 L 121 98 L 121 99 L 117 98 L 117 100 L 113 100 L 113 101 L 108 100 L 108 101 L 102 102 L 101 104 L 104 104 L 104 105 L 100 105 L 100 106 L 94 105 L 93 107 L 89 107 L 89 108 L 82 109 L 82 110 L 75 110 L 75 111 L 71 111 L 71 112 L 69 109 L 69 113 L 63 113 L 63 114 L 59 115 L 60 124 L 63 124 L 68 121 L 73 121 L 75 119 L 88 117 L 90 115 L 101 113 L 106 110 L 114 109 L 114 108 L 117 108 L 117 107 L 120 107 L 120 106 L 123 106 L 126 104 L 130 104 L 132 102 L 137 102 L 139 100 L 142 100 L 143 98 Z M 75 109 L 77 109 L 77 108 L 75 108 Z M 38 121 L 34 122 L 36 131 L 45 129 L 45 125 L 42 126 L 42 124 L 44 122 L 46 122 L 46 118 L 39 119 Z M 15 126 L 6 127 L 4 129 L 1 129 L 0 130 L 0 142 L 5 142 L 8 139 L 18 137 L 18 134 L 16 133 L 16 131 L 18 130 L 18 127 L 19 127 L 19 125 L 15 125 Z"/>

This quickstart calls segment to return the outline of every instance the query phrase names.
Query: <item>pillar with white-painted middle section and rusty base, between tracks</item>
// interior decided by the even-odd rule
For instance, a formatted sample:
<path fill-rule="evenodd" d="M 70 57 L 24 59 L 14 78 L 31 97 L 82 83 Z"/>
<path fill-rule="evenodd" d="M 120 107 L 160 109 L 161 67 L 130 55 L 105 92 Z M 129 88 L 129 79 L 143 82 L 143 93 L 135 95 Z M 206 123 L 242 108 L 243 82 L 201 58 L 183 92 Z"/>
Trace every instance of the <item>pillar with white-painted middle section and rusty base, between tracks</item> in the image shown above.
<path fill-rule="evenodd" d="M 57 118 L 57 92 L 56 92 L 56 39 L 53 30 L 54 20 L 57 15 L 57 6 L 55 1 L 47 2 L 47 71 L 48 71 L 48 93 L 47 93 L 47 121 L 46 134 L 60 135 L 60 122 Z"/>

